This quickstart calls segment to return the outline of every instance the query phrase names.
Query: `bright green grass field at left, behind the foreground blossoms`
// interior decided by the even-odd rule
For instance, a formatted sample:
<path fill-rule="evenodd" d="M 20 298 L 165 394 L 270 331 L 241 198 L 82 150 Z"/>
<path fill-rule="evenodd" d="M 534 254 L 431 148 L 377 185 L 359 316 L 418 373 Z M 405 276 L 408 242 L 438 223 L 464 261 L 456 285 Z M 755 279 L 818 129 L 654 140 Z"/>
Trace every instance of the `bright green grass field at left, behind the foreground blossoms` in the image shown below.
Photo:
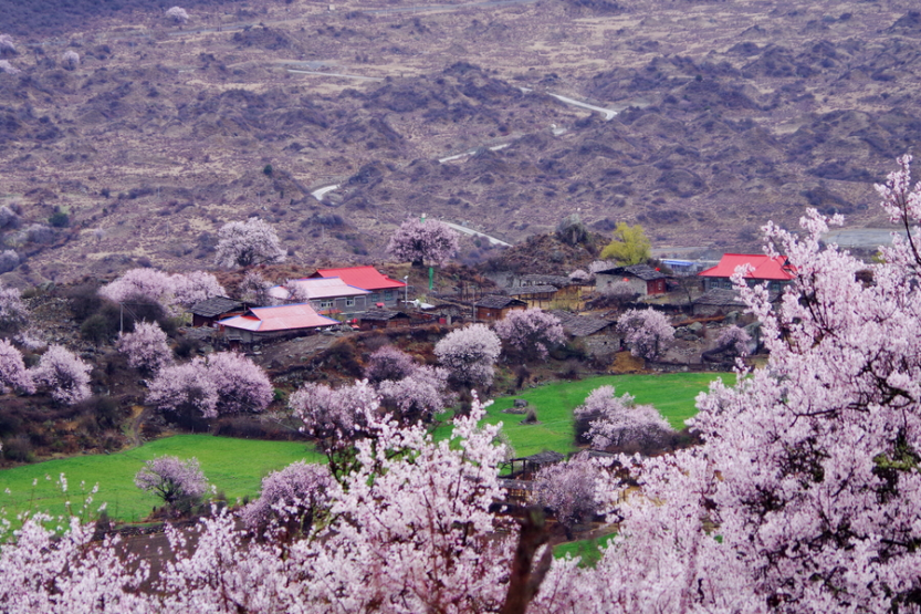
<path fill-rule="evenodd" d="M 85 499 L 85 495 L 81 493 L 80 482 L 83 481 L 82 490 L 86 493 L 95 483 L 100 485 L 91 506 L 93 512 L 105 501 L 113 519 L 138 521 L 160 501 L 135 487 L 134 476 L 145 461 L 163 455 L 198 458 L 209 482 L 224 492 L 229 501 L 257 496 L 262 478 L 270 471 L 295 460 L 321 459 L 320 455 L 297 441 L 177 435 L 113 455 L 75 456 L 4 469 L 0 471 L 0 508 L 6 508 L 10 520 L 27 510 L 64 513 L 65 501 L 71 501 L 75 511 Z M 61 473 L 67 479 L 66 495 L 57 485 Z M 45 476 L 51 479 L 45 479 Z M 34 487 L 33 480 L 38 481 Z"/>

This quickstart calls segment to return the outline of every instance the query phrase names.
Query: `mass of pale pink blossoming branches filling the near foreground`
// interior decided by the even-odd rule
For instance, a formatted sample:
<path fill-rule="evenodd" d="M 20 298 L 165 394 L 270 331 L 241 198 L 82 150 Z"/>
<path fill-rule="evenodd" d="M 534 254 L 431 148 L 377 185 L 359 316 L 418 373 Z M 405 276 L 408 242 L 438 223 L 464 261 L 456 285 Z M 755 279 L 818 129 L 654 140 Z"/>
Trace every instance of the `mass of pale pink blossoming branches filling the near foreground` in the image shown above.
<path fill-rule="evenodd" d="M 491 513 L 502 450 L 496 427 L 478 428 L 478 403 L 450 441 L 435 443 L 381 415 L 371 395 L 365 437 L 334 475 L 315 532 L 251 540 L 218 512 L 197 540 L 170 530 L 174 558 L 149 577 L 112 542 L 91 547 L 75 520 L 56 540 L 28 520 L 0 549 L 0 603 L 13 613 L 920 612 L 921 188 L 899 162 L 880 192 L 909 236 L 879 262 L 821 243 L 838 218 L 810 212 L 802 237 L 767 225 L 768 251 L 782 250 L 796 278 L 776 306 L 766 288 L 736 283 L 768 364 L 699 397 L 702 445 L 620 457 L 617 475 L 638 488 L 598 473 L 595 497 L 619 524 L 594 568 L 553 561 L 537 524 Z"/>

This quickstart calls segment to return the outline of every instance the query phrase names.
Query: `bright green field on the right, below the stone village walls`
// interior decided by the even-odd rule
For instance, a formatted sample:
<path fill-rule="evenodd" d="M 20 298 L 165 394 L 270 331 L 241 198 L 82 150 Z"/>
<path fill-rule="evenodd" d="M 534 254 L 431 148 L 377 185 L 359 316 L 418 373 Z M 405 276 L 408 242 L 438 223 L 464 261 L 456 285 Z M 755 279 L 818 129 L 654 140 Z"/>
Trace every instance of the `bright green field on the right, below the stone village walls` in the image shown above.
<path fill-rule="evenodd" d="M 722 374 L 725 381 L 726 374 Z M 563 454 L 574 451 L 573 409 L 585 402 L 588 393 L 611 385 L 617 395 L 630 393 L 639 404 L 653 405 L 677 429 L 697 414 L 694 398 L 719 377 L 715 373 L 670 373 L 661 375 L 605 375 L 579 382 L 558 382 L 522 392 L 513 397 L 498 398 L 488 409 L 485 422 L 502 423 L 515 452 L 527 456 L 542 450 Z M 729 377 L 734 377 L 729 374 Z M 527 400 L 537 412 L 541 424 L 522 425 L 522 415 L 503 414 L 515 398 Z M 444 428 L 444 427 L 442 427 Z"/>

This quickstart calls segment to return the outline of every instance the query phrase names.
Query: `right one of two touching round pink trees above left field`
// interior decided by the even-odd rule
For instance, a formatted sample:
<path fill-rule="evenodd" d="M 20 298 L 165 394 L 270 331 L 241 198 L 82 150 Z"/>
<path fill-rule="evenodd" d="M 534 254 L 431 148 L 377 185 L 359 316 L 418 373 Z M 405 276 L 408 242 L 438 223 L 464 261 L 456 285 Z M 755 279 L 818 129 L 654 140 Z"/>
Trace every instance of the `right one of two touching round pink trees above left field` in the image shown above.
<path fill-rule="evenodd" d="M 274 395 L 265 371 L 238 352 L 218 352 L 208 356 L 207 377 L 218 392 L 220 414 L 263 412 Z"/>

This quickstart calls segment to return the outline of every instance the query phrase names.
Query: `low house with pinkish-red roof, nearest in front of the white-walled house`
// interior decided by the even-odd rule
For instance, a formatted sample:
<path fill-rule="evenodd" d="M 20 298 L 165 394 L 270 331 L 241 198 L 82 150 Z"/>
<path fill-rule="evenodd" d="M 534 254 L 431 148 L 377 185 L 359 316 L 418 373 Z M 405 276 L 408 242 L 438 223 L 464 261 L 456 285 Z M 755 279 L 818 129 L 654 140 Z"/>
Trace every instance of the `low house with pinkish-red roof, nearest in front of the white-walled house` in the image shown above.
<path fill-rule="evenodd" d="M 230 342 L 253 343 L 289 334 L 308 334 L 339 322 L 320 315 L 308 303 L 252 308 L 243 315 L 218 322 Z"/>

